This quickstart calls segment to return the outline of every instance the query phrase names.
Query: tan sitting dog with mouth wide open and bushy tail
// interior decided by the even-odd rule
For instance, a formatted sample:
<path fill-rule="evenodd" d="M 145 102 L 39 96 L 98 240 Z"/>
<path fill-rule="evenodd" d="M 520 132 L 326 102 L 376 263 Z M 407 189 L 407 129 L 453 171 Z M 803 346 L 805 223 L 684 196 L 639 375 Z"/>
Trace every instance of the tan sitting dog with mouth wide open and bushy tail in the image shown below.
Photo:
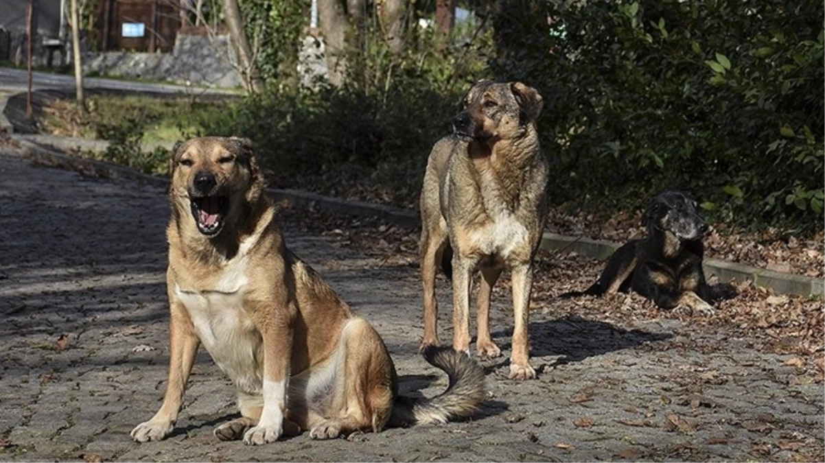
<path fill-rule="evenodd" d="M 380 335 L 286 249 L 252 143 L 196 138 L 176 148 L 172 163 L 168 384 L 158 413 L 132 431 L 135 441 L 172 432 L 199 344 L 238 389 L 242 417 L 214 430 L 222 440 L 257 445 L 306 429 L 328 439 L 441 423 L 483 401 L 483 371 L 451 349 L 425 352 L 450 376 L 445 393 L 398 396 Z"/>

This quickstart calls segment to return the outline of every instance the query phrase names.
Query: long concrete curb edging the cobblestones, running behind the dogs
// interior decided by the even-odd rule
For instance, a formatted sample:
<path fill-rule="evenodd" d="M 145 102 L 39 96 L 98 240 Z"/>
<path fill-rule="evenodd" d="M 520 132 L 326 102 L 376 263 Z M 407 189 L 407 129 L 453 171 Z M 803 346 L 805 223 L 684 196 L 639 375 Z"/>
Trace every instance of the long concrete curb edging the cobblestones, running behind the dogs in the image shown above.
<path fill-rule="evenodd" d="M 146 175 L 128 167 L 116 166 L 103 161 L 73 157 L 61 152 L 56 152 L 49 147 L 44 147 L 39 143 L 16 135 L 12 135 L 12 139 L 26 148 L 26 157 L 34 160 L 49 161 L 48 163 L 50 164 L 67 166 L 75 171 L 88 171 L 104 178 L 136 180 L 144 184 L 163 188 L 168 184 L 168 180 L 165 178 Z M 392 222 L 399 227 L 405 228 L 417 228 L 419 225 L 418 214 L 410 209 L 330 198 L 321 194 L 295 189 L 267 189 L 267 192 L 276 200 L 285 201 L 292 206 L 304 208 L 317 207 L 360 217 L 379 217 L 387 222 Z M 544 232 L 540 246 L 544 250 L 575 252 L 578 255 L 591 257 L 593 259 L 606 260 L 620 244 L 611 241 L 599 241 L 584 237 L 564 236 Z M 716 275 L 720 281 L 724 282 L 730 281 L 733 278 L 736 278 L 738 281 L 751 280 L 757 286 L 772 288 L 779 294 L 795 294 L 799 296 L 825 294 L 825 279 L 785 274 L 752 267 L 750 265 L 729 262 L 727 260 L 705 259 L 705 274 L 708 274 L 708 276 Z"/>

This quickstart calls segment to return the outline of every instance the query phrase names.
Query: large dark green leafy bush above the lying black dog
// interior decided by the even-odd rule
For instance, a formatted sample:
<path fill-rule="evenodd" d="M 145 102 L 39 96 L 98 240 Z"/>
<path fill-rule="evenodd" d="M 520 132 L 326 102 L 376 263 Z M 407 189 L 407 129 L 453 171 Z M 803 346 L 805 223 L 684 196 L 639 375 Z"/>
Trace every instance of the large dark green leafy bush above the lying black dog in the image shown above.
<path fill-rule="evenodd" d="M 511 53 L 494 66 L 545 96 L 554 200 L 638 206 L 682 188 L 739 225 L 821 217 L 822 2 L 540 5 L 504 12 Z"/>

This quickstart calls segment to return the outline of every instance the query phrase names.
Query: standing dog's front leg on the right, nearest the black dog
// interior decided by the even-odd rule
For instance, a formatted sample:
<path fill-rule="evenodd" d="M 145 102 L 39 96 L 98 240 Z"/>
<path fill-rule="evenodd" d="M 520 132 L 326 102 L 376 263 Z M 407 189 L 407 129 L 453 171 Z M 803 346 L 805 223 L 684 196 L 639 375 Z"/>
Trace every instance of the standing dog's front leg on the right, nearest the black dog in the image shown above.
<path fill-rule="evenodd" d="M 530 289 L 533 284 L 533 269 L 530 264 L 518 264 L 512 269 L 513 326 L 512 353 L 510 356 L 510 379 L 526 380 L 535 378 L 535 370 L 530 367 Z"/>

